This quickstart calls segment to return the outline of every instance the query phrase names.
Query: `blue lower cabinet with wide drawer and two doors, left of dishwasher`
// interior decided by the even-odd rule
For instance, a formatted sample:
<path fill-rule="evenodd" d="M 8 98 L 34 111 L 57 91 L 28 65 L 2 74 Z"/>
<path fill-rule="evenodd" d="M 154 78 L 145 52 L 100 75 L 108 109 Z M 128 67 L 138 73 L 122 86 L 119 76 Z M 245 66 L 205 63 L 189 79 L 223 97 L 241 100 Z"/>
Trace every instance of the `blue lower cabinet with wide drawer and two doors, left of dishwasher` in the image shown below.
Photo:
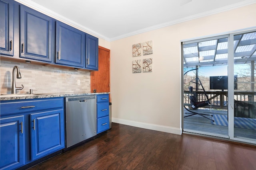
<path fill-rule="evenodd" d="M 17 169 L 65 147 L 64 98 L 1 101 L 0 170 Z"/>

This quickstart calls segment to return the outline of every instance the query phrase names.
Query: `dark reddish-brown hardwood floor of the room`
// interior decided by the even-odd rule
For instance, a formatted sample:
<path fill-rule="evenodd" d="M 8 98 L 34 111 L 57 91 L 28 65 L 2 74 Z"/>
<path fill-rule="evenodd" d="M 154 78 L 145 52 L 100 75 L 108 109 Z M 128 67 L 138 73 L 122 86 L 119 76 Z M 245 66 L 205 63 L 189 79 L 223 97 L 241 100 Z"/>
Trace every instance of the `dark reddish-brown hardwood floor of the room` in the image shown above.
<path fill-rule="evenodd" d="M 30 170 L 256 170 L 256 147 L 112 123 Z"/>

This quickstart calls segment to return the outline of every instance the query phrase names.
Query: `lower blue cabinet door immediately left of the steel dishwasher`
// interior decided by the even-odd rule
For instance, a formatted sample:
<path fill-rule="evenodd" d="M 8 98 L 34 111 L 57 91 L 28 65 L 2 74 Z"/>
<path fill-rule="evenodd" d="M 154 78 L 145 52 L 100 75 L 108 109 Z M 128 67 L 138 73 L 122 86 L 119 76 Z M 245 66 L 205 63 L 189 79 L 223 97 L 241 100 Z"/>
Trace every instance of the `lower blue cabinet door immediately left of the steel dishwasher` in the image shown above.
<path fill-rule="evenodd" d="M 65 147 L 63 109 L 30 114 L 32 161 Z"/>

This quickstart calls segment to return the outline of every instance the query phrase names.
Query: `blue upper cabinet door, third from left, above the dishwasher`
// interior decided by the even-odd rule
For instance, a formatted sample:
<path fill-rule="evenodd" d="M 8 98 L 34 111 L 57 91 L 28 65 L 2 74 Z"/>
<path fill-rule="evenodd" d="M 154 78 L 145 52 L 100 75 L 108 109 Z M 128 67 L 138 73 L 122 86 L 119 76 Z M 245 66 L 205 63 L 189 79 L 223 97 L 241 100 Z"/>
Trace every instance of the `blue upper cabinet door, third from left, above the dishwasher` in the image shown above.
<path fill-rule="evenodd" d="M 56 63 L 84 68 L 85 33 L 56 22 Z"/>

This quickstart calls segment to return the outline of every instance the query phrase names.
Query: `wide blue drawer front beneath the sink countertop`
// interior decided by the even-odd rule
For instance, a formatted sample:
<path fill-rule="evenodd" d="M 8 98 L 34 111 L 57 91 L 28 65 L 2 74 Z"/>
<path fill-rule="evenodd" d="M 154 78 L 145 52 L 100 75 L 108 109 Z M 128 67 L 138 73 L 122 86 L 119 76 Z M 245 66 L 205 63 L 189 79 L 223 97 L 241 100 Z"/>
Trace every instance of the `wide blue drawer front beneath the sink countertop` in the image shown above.
<path fill-rule="evenodd" d="M 47 100 L 18 100 L 16 102 L 1 101 L 1 116 L 13 113 L 22 113 L 30 111 L 38 111 L 42 109 L 52 109 L 64 106 L 63 98 L 58 99 L 47 99 Z M 11 108 L 11 109 L 10 109 Z"/>

